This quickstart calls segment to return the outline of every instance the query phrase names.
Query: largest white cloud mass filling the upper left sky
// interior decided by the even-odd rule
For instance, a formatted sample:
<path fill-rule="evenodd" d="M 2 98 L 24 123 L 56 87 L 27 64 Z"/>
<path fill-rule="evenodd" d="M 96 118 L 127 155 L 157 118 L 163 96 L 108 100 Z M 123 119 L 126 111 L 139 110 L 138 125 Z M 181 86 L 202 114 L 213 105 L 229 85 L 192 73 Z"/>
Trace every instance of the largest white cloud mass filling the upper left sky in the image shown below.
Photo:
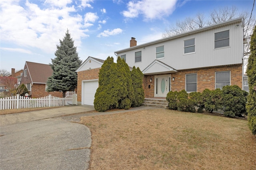
<path fill-rule="evenodd" d="M 62 7 L 60 1 L 46 0 L 45 3 L 52 3 L 54 6 L 42 9 L 33 4 L 33 1 L 24 2 L 24 7 L 19 5 L 21 2 L 1 1 L 1 43 L 11 42 L 52 53 L 56 51 L 56 44 L 65 36 L 67 29 L 77 47 L 81 45 L 82 37 L 89 36 L 85 27 L 92 24 L 84 23 L 83 17 L 79 14 L 70 14 L 76 12 L 74 6 L 64 6 L 70 0 L 61 0 Z M 85 16 L 88 22 L 97 19 L 93 13 Z"/>

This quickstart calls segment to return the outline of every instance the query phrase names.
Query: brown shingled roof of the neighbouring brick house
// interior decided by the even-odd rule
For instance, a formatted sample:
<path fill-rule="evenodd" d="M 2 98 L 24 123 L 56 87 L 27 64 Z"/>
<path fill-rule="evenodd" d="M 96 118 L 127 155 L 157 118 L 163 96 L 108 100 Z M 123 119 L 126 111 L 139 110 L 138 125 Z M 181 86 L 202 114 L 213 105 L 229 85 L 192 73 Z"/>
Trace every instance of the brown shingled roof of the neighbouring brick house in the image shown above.
<path fill-rule="evenodd" d="M 46 84 L 48 78 L 52 76 L 52 68 L 48 64 L 32 63 L 26 61 L 28 72 L 32 83 Z"/>

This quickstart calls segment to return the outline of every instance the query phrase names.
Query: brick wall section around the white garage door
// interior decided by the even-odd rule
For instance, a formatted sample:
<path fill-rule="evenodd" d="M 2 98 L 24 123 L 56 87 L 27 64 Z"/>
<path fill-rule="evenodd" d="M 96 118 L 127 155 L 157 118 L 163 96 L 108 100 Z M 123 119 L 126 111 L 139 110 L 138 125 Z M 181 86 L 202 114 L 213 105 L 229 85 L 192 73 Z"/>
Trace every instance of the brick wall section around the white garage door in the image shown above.
<path fill-rule="evenodd" d="M 82 81 L 99 79 L 100 68 L 77 72 L 77 102 L 82 102 Z"/>

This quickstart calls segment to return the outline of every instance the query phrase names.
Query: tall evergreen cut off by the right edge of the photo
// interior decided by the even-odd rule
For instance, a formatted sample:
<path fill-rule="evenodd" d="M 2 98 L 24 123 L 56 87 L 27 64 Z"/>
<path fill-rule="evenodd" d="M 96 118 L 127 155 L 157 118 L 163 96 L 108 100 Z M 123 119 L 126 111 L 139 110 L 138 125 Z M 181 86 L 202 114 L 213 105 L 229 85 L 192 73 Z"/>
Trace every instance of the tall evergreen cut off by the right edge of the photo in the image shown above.
<path fill-rule="evenodd" d="M 256 26 L 250 41 L 250 56 L 248 59 L 247 76 L 249 84 L 249 95 L 246 110 L 248 113 L 248 125 L 252 134 L 256 135 Z"/>

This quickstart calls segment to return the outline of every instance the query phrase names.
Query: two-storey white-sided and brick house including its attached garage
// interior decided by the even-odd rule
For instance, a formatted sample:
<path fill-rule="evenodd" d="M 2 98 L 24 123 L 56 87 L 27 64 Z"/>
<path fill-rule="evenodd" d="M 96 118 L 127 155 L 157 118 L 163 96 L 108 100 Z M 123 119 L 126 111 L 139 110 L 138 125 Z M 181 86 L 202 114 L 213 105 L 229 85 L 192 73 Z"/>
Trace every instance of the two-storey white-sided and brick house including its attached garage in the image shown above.
<path fill-rule="evenodd" d="M 242 88 L 243 27 L 244 19 L 237 18 L 141 45 L 132 37 L 130 48 L 114 53 L 130 67 L 142 70 L 145 98 L 165 98 L 169 91 L 183 89 L 188 93 L 202 92 L 234 84 Z M 78 68 L 81 104 L 93 105 L 103 63 L 88 57 Z M 89 90 L 93 98 L 86 97 L 87 83 L 88 89 L 94 88 Z"/>

